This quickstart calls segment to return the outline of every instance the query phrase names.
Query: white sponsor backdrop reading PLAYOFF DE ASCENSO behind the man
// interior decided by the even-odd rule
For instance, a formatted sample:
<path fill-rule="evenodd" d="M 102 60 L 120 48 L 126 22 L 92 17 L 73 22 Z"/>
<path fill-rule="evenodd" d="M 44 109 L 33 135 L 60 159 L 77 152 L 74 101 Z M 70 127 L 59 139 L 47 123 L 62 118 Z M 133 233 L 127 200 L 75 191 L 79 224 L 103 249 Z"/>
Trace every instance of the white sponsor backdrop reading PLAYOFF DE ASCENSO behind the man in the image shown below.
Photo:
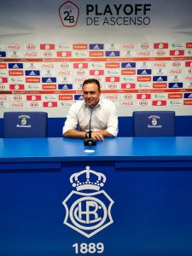
<path fill-rule="evenodd" d="M 192 2 L 9 0 L 0 9 L 0 118 L 4 111 L 66 117 L 98 79 L 119 116 L 191 115 Z"/>

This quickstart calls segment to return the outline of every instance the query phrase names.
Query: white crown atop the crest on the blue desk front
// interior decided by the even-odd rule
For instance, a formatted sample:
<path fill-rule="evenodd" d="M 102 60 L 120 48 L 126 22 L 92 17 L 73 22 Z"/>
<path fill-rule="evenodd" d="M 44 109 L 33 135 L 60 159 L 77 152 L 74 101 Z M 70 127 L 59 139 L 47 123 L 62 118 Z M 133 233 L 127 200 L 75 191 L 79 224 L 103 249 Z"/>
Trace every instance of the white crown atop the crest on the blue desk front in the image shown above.
<path fill-rule="evenodd" d="M 86 170 L 73 173 L 70 177 L 70 183 L 72 183 L 73 188 L 76 188 L 77 191 L 85 189 L 98 191 L 104 186 L 105 182 L 105 175 L 101 172 L 90 170 L 90 166 L 86 166 Z"/>

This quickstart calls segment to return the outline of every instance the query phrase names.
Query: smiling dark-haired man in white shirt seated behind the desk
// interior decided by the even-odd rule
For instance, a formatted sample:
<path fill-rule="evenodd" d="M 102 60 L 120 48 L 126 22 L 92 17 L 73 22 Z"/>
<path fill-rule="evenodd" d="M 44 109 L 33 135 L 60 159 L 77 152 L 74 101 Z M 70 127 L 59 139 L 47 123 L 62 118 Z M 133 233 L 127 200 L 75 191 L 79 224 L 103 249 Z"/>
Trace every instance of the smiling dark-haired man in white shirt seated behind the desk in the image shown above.
<path fill-rule="evenodd" d="M 99 81 L 86 79 L 82 90 L 84 101 L 75 102 L 69 109 L 63 126 L 63 136 L 85 138 L 89 137 L 91 129 L 91 138 L 96 141 L 102 141 L 104 137 L 116 137 L 118 134 L 117 110 L 113 102 L 100 97 Z M 77 127 L 79 130 L 76 130 Z"/>

